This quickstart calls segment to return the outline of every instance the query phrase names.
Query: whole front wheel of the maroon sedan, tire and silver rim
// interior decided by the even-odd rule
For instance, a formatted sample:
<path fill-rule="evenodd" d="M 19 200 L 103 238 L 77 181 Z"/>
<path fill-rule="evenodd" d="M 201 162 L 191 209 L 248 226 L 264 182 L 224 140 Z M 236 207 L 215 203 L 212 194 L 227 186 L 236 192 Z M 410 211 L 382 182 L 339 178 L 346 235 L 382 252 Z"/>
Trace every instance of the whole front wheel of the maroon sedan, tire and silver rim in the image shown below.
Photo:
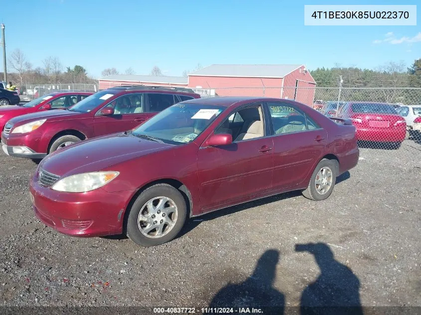
<path fill-rule="evenodd" d="M 174 239 L 184 225 L 187 207 L 181 193 L 168 184 L 145 189 L 130 209 L 127 236 L 141 246 Z"/>

